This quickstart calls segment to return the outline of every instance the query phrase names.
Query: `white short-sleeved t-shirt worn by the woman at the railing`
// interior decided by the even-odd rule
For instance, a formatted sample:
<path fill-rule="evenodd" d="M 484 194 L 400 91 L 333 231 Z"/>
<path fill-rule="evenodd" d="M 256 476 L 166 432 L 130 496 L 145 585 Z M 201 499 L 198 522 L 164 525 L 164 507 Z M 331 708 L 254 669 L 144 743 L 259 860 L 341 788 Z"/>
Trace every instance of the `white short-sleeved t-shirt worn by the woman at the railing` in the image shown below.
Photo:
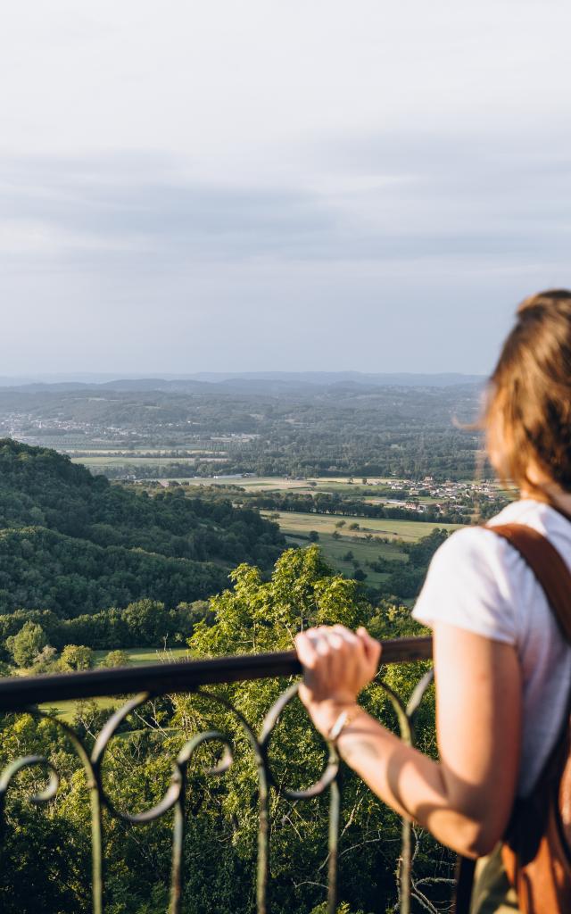
<path fill-rule="evenodd" d="M 571 569 L 571 522 L 549 505 L 522 499 L 489 523 L 533 527 Z M 571 689 L 571 648 L 533 571 L 503 537 L 465 527 L 439 547 L 412 615 L 424 625 L 440 620 L 515 645 L 523 670 L 518 793 L 525 796 L 555 745 Z"/>

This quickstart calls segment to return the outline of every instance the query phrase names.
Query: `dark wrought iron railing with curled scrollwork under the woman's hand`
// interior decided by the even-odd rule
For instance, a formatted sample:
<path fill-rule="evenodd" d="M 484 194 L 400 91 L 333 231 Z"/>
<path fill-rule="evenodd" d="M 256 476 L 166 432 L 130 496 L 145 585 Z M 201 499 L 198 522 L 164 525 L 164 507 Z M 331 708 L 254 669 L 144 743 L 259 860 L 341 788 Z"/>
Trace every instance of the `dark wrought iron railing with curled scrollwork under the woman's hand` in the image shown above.
<path fill-rule="evenodd" d="M 410 663 L 427 660 L 431 656 L 429 638 L 400 638 L 383 643 L 383 664 Z M 39 709 L 39 703 L 100 697 L 125 696 L 138 693 L 122 704 L 107 720 L 95 739 L 92 749 L 79 739 L 73 728 L 64 720 L 52 717 L 58 727 L 69 738 L 87 775 L 91 804 L 91 856 L 92 856 L 92 909 L 93 914 L 103 914 L 103 850 L 102 810 L 130 824 L 145 824 L 160 818 L 170 810 L 174 811 L 171 889 L 169 914 L 181 910 L 184 884 L 183 846 L 185 839 L 185 785 L 187 768 L 196 749 L 207 742 L 216 742 L 224 748 L 222 760 L 216 768 L 207 773 L 220 774 L 232 764 L 232 744 L 228 736 L 218 730 L 206 730 L 189 739 L 174 760 L 170 785 L 161 802 L 143 813 L 124 813 L 111 801 L 109 792 L 102 781 L 102 766 L 110 740 L 121 728 L 126 717 L 149 699 L 157 696 L 192 693 L 204 696 L 219 707 L 231 712 L 243 729 L 253 752 L 258 773 L 258 865 L 257 865 L 257 914 L 269 914 L 267 896 L 270 862 L 269 802 L 270 792 L 278 790 L 272 775 L 268 747 L 281 712 L 297 693 L 294 683 L 283 692 L 264 717 L 259 734 L 242 714 L 227 701 L 227 698 L 205 691 L 203 686 L 219 683 L 296 675 L 300 664 L 294 652 L 280 654 L 245 654 L 212 660 L 189 661 L 185 663 L 155 664 L 152 666 L 122 667 L 111 670 L 88 670 L 67 675 L 41 675 L 14 677 L 0 680 L 0 712 L 26 711 L 35 717 L 50 717 L 47 711 Z M 412 744 L 413 718 L 428 685 L 432 671 L 428 670 L 419 680 L 412 696 L 405 704 L 396 692 L 380 681 L 386 695 L 397 713 L 401 738 Z M 0 829 L 4 824 L 6 792 L 19 771 L 43 767 L 48 771 L 48 784 L 44 790 L 31 797 L 31 802 L 41 804 L 53 799 L 58 792 L 59 777 L 54 763 L 40 755 L 21 756 L 13 760 L 0 775 Z M 333 745 L 328 747 L 321 777 L 305 790 L 295 791 L 280 788 L 283 796 L 291 800 L 315 797 L 329 790 L 329 848 L 328 848 L 328 897 L 327 912 L 334 914 L 337 902 L 337 845 L 340 820 L 340 792 L 337 782 L 339 759 Z M 409 914 L 411 903 L 411 825 L 403 822 L 402 845 L 397 872 L 400 914 Z M 0 839 L 2 834 L 0 832 Z"/>

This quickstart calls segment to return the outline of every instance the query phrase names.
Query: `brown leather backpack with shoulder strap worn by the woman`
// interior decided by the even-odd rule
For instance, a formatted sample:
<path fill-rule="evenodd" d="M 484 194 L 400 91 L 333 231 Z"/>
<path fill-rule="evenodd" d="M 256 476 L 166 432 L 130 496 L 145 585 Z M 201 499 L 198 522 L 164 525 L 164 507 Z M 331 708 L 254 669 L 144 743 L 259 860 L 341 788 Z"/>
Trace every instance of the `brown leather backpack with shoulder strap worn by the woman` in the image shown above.
<path fill-rule="evenodd" d="M 545 591 L 559 631 L 571 645 L 571 572 L 546 537 L 523 524 L 487 526 L 518 550 Z M 502 839 L 502 864 L 522 914 L 571 912 L 571 696 L 533 791 L 516 797 Z M 460 857 L 456 914 L 469 914 L 474 861 Z"/>

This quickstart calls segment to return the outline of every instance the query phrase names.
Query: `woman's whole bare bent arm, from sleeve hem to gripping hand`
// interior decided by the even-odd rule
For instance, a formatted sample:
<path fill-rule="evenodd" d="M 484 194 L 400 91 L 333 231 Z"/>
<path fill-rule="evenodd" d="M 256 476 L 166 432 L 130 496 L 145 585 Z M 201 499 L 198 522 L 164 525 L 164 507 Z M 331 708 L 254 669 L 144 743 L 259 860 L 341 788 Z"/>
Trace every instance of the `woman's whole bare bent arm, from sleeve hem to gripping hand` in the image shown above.
<path fill-rule="evenodd" d="M 365 629 L 296 635 L 300 698 L 315 727 L 397 813 L 467 856 L 492 850 L 513 807 L 522 730 L 522 677 L 513 644 L 454 625 L 434 627 L 439 762 L 382 727 L 356 696 L 378 670 Z"/>

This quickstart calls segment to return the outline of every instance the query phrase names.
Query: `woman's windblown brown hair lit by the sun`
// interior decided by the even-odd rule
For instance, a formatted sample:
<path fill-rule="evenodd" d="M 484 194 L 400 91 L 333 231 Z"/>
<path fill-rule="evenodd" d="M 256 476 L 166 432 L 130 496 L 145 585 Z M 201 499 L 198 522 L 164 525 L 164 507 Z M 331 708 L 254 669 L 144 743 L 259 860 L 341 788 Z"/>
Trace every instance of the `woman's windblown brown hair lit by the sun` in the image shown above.
<path fill-rule="evenodd" d="M 520 304 L 482 425 L 504 482 L 529 485 L 535 464 L 571 491 L 571 292 L 551 289 Z"/>

